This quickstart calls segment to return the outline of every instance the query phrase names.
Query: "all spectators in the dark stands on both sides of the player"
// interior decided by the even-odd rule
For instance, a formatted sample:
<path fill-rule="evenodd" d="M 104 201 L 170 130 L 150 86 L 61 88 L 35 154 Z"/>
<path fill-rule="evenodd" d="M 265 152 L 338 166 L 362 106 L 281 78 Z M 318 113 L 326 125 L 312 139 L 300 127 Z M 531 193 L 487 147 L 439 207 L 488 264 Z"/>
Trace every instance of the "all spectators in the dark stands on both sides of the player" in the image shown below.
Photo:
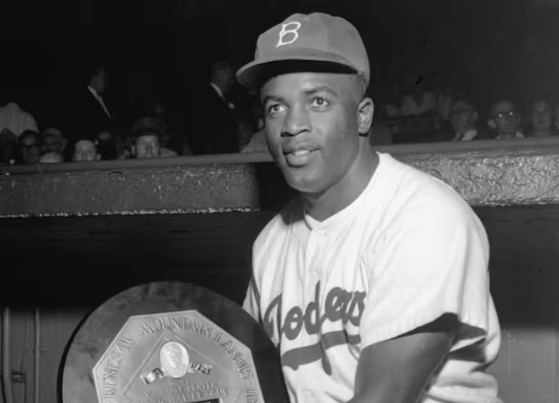
<path fill-rule="evenodd" d="M 109 82 L 105 67 L 92 67 L 57 124 L 41 125 L 13 99 L 4 99 L 0 164 L 267 150 L 258 97 L 236 90 L 234 70 L 227 62 L 211 65 L 209 82 L 191 94 L 182 110 L 170 111 L 164 97 L 155 96 L 124 111 L 107 101 Z M 391 99 L 376 106 L 381 112 L 369 132 L 371 144 L 546 137 L 559 132 L 559 109 L 544 97 L 533 99 L 525 111 L 506 97 L 484 111 L 471 96 L 453 94 L 448 86 L 430 85 L 421 74 L 410 73 Z"/>

